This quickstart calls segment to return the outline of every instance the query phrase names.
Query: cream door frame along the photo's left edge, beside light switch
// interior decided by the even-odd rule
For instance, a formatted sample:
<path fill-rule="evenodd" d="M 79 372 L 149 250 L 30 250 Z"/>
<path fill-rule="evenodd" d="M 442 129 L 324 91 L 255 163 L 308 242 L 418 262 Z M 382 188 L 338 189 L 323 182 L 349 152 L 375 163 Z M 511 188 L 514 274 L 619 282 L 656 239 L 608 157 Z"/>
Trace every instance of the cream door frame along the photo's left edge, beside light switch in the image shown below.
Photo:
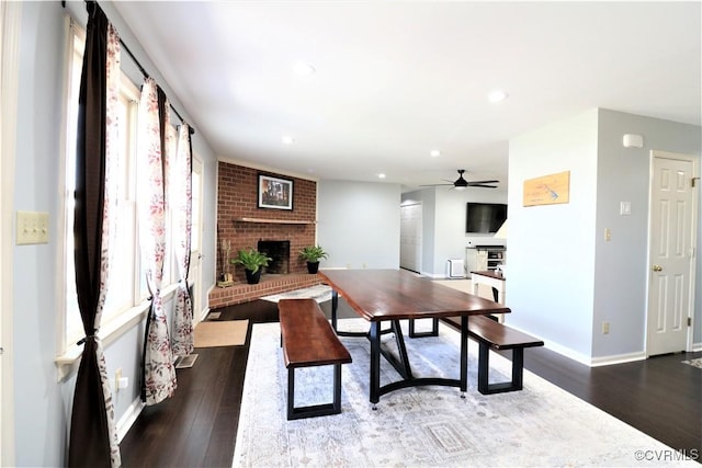
<path fill-rule="evenodd" d="M 14 466 L 14 164 L 22 2 L 0 2 L 0 466 Z"/>

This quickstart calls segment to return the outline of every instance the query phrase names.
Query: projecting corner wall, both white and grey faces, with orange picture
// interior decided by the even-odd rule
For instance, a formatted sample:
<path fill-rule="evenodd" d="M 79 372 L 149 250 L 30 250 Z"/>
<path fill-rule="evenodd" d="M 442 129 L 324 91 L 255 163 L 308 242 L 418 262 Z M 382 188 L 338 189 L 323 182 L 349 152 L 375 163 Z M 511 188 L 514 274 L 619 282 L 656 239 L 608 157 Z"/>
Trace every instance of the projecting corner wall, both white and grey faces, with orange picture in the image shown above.
<path fill-rule="evenodd" d="M 624 134 L 643 135 L 644 148 L 623 148 Z M 511 140 L 507 322 L 588 364 L 643 357 L 650 150 L 699 156 L 701 140 L 699 126 L 608 110 Z M 566 170 L 570 203 L 522 206 L 524 180 Z M 631 216 L 619 214 L 620 202 L 631 202 Z M 698 275 L 697 347 L 701 283 Z M 610 322 L 607 335 L 603 321 Z"/>

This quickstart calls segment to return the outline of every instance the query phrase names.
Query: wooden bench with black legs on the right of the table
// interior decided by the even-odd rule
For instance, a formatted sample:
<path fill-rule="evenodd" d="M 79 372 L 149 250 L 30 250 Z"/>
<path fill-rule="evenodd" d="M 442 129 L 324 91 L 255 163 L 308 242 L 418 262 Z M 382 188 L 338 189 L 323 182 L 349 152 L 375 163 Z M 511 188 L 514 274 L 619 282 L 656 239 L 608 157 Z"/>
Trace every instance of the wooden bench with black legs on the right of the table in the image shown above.
<path fill-rule="evenodd" d="M 461 329 L 460 318 L 450 317 L 444 321 Z M 543 346 L 544 342 L 485 316 L 468 318 L 468 334 L 479 345 L 478 391 L 483 395 L 490 395 L 521 390 L 524 374 L 524 347 Z M 490 347 L 497 351 L 512 350 L 511 381 L 488 384 Z"/>

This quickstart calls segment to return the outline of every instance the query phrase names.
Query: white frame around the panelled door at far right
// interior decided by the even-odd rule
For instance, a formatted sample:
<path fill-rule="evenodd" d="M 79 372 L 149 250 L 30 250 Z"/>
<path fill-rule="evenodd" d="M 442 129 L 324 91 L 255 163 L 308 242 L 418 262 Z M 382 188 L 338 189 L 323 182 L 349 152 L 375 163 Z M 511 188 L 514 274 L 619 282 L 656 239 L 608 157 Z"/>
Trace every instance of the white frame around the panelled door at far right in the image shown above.
<path fill-rule="evenodd" d="M 691 258 L 690 258 L 690 272 L 689 272 L 689 305 L 688 305 L 688 317 L 690 318 L 690 326 L 688 327 L 688 338 L 686 343 L 686 351 L 691 352 L 694 340 L 694 300 L 695 300 L 695 272 L 698 264 L 698 236 L 699 236 L 699 219 L 698 219 L 698 199 L 699 199 L 699 190 L 700 190 L 700 157 L 695 155 L 688 153 L 679 153 L 671 151 L 663 151 L 663 150 L 652 150 L 650 151 L 650 161 L 649 161 L 649 183 L 648 183 L 648 232 L 647 232 L 647 243 L 646 243 L 646 320 L 645 320 L 645 350 L 646 357 L 649 357 L 649 334 L 648 334 L 648 324 L 650 319 L 650 286 L 652 286 L 652 275 L 650 275 L 650 241 L 652 241 L 652 229 L 653 229 L 653 199 L 654 199 L 654 161 L 656 159 L 676 159 L 680 161 L 688 161 L 692 163 L 692 178 L 697 178 L 697 184 L 694 189 L 697 189 L 697 193 L 692 193 L 692 203 L 690 206 L 691 216 L 690 216 L 690 226 L 692 227 L 692 233 L 690 238 L 690 249 L 691 249 Z"/>

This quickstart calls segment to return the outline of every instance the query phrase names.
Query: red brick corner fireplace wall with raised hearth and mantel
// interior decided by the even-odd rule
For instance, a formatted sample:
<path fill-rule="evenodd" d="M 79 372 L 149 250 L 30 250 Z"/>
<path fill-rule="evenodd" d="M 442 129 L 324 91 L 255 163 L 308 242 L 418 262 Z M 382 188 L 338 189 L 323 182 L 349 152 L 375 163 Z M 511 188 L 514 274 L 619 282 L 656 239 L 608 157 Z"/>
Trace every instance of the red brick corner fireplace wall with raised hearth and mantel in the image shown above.
<path fill-rule="evenodd" d="M 292 209 L 259 208 L 259 174 L 284 179 L 293 183 Z M 319 284 L 317 275 L 307 273 L 307 265 L 298 252 L 315 243 L 317 217 L 317 183 L 260 171 L 219 161 L 217 190 L 217 278 L 223 273 L 234 275 L 234 285 L 215 287 L 210 295 L 210 308 L 224 307 Z M 263 249 L 259 242 L 264 242 Z M 263 270 L 258 285 L 246 283 L 241 265 L 227 264 L 225 251 L 233 259 L 240 249 L 269 249 L 269 242 L 282 246 L 287 260 L 271 262 L 271 271 Z M 273 256 L 268 253 L 269 256 Z M 276 251 L 275 256 L 281 253 Z"/>

